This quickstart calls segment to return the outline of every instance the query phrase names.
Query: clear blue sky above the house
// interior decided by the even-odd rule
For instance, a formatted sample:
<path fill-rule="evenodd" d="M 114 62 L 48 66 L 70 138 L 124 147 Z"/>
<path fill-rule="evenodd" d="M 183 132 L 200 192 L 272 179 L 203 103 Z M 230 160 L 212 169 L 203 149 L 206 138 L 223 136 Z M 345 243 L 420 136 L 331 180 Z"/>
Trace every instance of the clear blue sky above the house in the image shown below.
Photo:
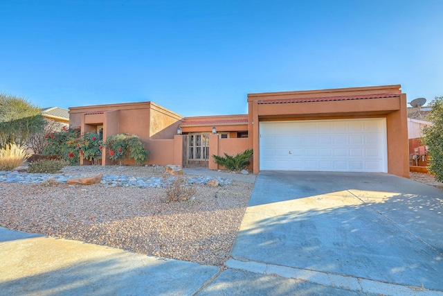
<path fill-rule="evenodd" d="M 0 1 L 0 92 L 246 114 L 248 93 L 443 96 L 442 0 Z"/>

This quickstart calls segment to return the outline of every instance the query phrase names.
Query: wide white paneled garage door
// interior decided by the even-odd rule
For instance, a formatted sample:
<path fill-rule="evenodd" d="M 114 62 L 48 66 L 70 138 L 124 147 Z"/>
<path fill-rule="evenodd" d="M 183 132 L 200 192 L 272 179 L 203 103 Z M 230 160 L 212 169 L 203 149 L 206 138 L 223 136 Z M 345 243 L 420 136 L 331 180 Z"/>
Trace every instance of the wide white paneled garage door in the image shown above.
<path fill-rule="evenodd" d="M 260 122 L 260 170 L 388 171 L 386 119 Z"/>

